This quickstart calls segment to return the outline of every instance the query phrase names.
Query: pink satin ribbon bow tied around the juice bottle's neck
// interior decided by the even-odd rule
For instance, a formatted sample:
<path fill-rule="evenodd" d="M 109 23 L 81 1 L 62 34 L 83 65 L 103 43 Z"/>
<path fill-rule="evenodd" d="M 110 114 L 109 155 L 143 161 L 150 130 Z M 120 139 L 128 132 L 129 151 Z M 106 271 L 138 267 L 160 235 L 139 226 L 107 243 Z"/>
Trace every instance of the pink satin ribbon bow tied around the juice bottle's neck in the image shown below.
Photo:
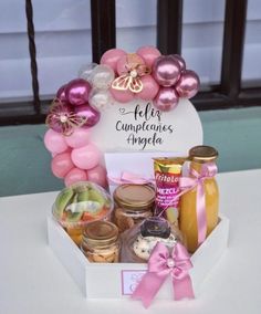
<path fill-rule="evenodd" d="M 202 164 L 200 172 L 190 169 L 192 177 L 181 177 L 179 187 L 181 193 L 192 190 L 197 187 L 197 226 L 198 226 L 198 244 L 201 244 L 207 237 L 207 217 L 206 217 L 206 197 L 203 181 L 217 175 L 218 168 L 213 163 Z"/>

